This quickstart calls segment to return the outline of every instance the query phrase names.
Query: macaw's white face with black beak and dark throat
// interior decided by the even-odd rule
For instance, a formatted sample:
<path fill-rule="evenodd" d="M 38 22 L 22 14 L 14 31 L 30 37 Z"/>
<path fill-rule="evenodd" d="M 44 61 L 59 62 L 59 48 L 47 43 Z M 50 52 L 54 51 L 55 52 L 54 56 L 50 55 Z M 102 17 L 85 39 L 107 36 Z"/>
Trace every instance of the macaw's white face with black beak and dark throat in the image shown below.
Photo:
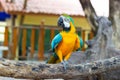
<path fill-rule="evenodd" d="M 57 22 L 58 26 L 62 27 L 63 30 L 65 31 L 69 31 L 70 30 L 70 19 L 66 16 L 61 15 L 58 18 L 58 22 Z"/>

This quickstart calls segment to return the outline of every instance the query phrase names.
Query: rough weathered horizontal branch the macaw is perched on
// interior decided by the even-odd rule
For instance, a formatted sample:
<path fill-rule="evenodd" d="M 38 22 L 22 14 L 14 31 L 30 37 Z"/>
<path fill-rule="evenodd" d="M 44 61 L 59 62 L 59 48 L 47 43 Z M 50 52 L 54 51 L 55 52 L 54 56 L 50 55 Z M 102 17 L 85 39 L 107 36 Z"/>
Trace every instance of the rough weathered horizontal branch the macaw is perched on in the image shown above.
<path fill-rule="evenodd" d="M 92 63 L 69 65 L 66 71 L 61 64 L 22 62 L 0 59 L 0 76 L 26 79 L 75 79 L 104 72 L 120 70 L 120 57 L 99 60 Z M 83 80 L 83 79 L 82 79 Z"/>

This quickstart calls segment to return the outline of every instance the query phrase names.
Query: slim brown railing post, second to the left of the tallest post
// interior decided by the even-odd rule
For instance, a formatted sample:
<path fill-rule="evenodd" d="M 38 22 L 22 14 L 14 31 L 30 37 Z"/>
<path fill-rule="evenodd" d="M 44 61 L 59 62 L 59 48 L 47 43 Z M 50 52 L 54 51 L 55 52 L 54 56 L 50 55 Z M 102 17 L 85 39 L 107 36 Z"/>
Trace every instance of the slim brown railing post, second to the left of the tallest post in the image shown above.
<path fill-rule="evenodd" d="M 27 37 L 27 31 L 26 31 L 26 29 L 23 29 L 23 35 L 22 35 L 22 58 L 26 58 L 26 37 Z"/>

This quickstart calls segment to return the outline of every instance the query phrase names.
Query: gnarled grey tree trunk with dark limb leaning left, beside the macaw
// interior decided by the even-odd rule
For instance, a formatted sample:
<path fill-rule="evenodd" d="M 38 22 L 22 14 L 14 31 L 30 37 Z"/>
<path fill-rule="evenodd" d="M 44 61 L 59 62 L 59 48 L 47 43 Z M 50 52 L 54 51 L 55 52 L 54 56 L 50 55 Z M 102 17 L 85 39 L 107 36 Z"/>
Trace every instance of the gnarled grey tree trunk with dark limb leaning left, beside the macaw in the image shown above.
<path fill-rule="evenodd" d="M 113 47 L 112 23 L 104 16 L 98 17 L 90 0 L 79 0 L 82 4 L 86 18 L 92 24 L 96 35 L 92 40 L 87 41 L 88 49 L 85 51 L 87 61 L 101 60 L 119 55 L 119 51 Z"/>

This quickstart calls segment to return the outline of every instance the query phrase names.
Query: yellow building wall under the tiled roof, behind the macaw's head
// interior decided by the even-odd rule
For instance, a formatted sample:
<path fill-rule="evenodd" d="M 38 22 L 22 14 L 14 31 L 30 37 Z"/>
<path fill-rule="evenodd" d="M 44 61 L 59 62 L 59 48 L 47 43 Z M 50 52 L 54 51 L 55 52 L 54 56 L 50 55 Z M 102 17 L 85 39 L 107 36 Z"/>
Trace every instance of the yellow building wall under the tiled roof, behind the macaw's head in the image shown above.
<path fill-rule="evenodd" d="M 56 26 L 59 16 L 55 15 L 25 15 L 24 23 L 29 25 L 40 25 L 41 21 L 44 21 L 45 25 Z M 72 17 L 75 22 L 75 26 L 81 27 L 82 29 L 90 29 L 89 23 L 85 17 Z M 16 24 L 19 25 L 20 15 L 17 17 Z"/>

